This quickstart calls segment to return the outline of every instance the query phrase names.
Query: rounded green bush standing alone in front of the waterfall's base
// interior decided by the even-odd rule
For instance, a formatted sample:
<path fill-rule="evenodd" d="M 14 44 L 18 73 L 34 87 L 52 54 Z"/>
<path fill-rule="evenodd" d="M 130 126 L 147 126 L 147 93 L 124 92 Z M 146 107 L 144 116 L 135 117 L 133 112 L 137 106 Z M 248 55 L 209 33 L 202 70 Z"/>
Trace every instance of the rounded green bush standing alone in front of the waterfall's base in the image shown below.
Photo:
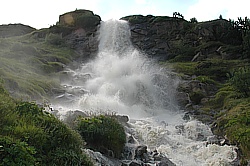
<path fill-rule="evenodd" d="M 88 147 L 103 153 L 111 150 L 115 157 L 121 157 L 126 134 L 115 117 L 100 115 L 81 118 L 77 128 Z"/>

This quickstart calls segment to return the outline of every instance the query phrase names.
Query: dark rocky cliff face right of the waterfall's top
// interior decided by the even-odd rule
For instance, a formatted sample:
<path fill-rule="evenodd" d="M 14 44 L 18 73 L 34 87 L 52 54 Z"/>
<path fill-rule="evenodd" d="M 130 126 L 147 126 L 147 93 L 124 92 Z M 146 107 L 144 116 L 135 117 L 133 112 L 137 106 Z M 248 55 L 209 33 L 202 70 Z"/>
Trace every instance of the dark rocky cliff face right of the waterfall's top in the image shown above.
<path fill-rule="evenodd" d="M 183 18 L 132 15 L 121 18 L 131 26 L 133 44 L 159 60 L 197 61 L 220 56 L 237 58 L 228 48 L 242 43 L 241 34 L 224 19 L 193 23 Z M 218 51 L 219 50 L 219 51 Z"/>

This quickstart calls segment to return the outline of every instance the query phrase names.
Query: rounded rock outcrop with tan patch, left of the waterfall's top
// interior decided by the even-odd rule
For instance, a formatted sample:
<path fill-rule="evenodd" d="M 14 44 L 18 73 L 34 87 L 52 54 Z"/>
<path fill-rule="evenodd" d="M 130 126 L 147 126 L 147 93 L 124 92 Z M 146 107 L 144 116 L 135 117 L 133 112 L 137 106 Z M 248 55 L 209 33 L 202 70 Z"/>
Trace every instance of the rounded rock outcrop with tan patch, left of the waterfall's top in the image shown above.
<path fill-rule="evenodd" d="M 56 27 L 71 30 L 69 34 L 64 34 L 64 39 L 67 45 L 73 48 L 84 60 L 95 55 L 98 50 L 96 33 L 100 21 L 100 16 L 95 15 L 92 11 L 76 10 L 60 15 L 59 25 Z"/>

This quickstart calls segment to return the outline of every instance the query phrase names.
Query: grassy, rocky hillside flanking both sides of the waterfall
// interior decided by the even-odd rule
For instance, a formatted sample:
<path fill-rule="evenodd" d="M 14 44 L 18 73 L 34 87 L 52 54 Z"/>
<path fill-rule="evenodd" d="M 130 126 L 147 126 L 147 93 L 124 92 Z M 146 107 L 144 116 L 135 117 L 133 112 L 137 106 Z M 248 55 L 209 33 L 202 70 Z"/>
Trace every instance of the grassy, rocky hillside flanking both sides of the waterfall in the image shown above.
<path fill-rule="evenodd" d="M 211 125 L 250 160 L 249 20 L 187 21 L 180 17 L 134 15 L 131 39 L 149 58 L 182 79 L 180 107 Z M 242 21 L 242 20 L 241 20 Z M 0 80 L 15 99 L 49 102 L 64 93 L 66 67 L 95 57 L 101 17 L 88 10 L 59 16 L 48 29 L 0 26 Z"/>

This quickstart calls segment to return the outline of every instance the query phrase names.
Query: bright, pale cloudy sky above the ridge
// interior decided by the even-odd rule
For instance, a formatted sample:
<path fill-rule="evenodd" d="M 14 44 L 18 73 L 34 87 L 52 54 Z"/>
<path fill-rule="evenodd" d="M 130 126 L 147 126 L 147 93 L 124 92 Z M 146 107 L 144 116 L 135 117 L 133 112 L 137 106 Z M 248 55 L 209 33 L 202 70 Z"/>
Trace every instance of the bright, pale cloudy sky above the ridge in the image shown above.
<path fill-rule="evenodd" d="M 87 9 L 103 21 L 141 14 L 172 16 L 180 12 L 186 20 L 219 18 L 237 20 L 250 17 L 248 0 L 1 0 L 0 24 L 22 23 L 34 28 L 56 24 L 59 15 L 75 9 Z"/>

